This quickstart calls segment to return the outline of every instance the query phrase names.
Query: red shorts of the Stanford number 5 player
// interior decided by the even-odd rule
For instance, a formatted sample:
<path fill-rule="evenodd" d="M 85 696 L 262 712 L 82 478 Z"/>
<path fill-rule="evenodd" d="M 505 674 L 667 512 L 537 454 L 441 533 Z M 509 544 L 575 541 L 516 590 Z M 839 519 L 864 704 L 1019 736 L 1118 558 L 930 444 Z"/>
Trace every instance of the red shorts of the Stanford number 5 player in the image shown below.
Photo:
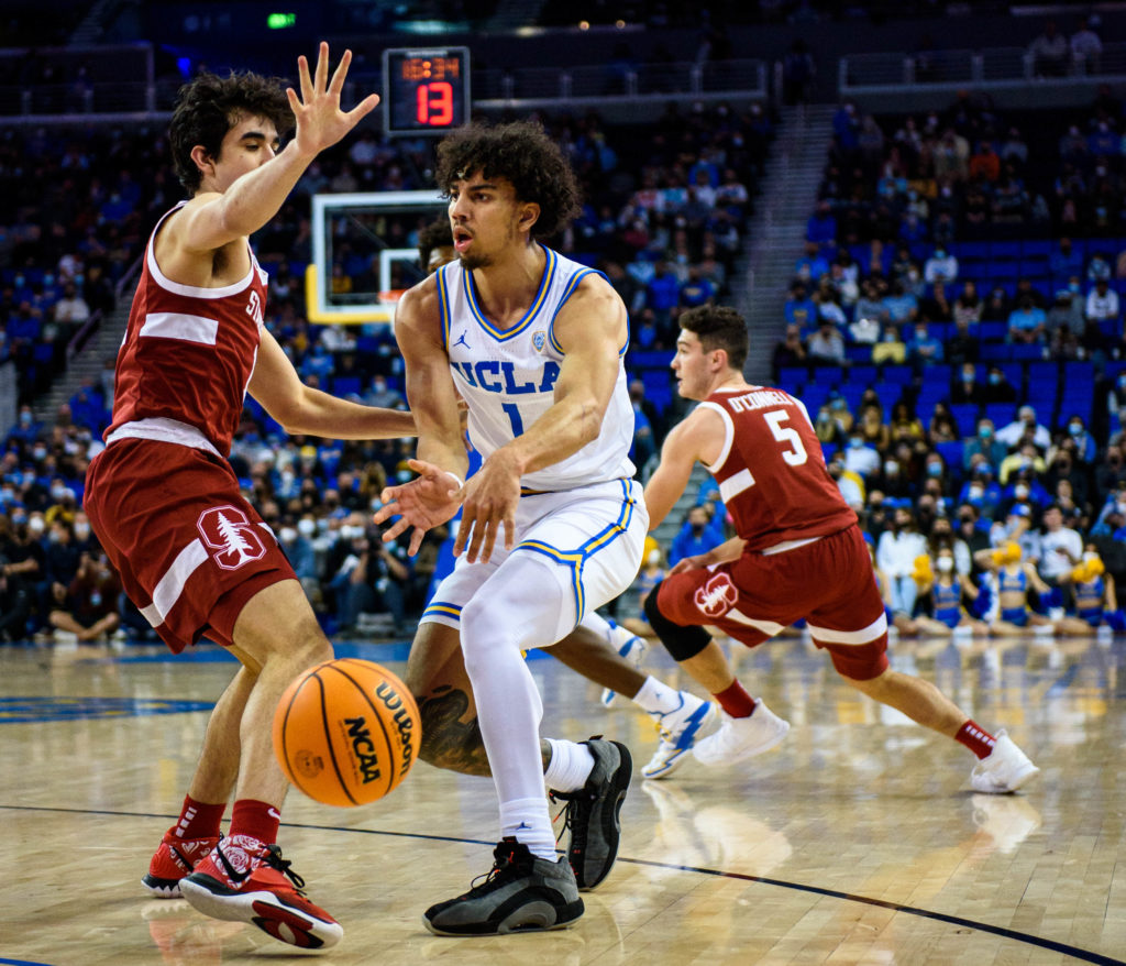
<path fill-rule="evenodd" d="M 661 613 L 674 623 L 711 624 L 754 647 L 804 618 L 841 674 L 868 681 L 887 670 L 887 618 L 859 526 L 676 574 L 658 593 Z"/>

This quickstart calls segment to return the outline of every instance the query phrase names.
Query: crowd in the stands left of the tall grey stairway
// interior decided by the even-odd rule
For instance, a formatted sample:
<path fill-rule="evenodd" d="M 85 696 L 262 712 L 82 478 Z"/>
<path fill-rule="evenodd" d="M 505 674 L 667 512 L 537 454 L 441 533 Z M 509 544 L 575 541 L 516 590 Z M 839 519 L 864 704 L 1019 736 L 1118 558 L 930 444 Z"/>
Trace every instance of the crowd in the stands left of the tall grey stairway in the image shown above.
<path fill-rule="evenodd" d="M 579 220 L 553 243 L 604 271 L 631 310 L 633 455 L 641 467 L 658 452 L 672 416 L 668 363 L 676 318 L 726 294 L 774 122 L 759 107 L 718 106 L 670 107 L 644 128 L 607 128 L 595 114 L 545 123 L 586 198 Z M 266 325 L 310 384 L 405 406 L 388 326 L 314 326 L 305 318 L 309 196 L 429 187 L 432 149 L 427 140 L 361 133 L 320 157 L 253 239 L 270 274 Z M 21 192 L 29 179 L 43 190 Z M 60 640 L 151 637 L 81 511 L 86 468 L 109 422 L 113 358 L 53 419 L 41 424 L 32 404 L 63 371 L 75 331 L 113 309 L 114 284 L 127 280 L 152 225 L 181 196 L 164 136 L 154 130 L 45 128 L 0 140 L 0 364 L 15 360 L 20 373 L 18 420 L 0 454 L 0 636 L 8 639 L 28 632 Z M 412 247 L 428 221 L 388 216 L 379 234 L 391 247 Z M 361 247 L 359 234 L 343 232 L 333 251 L 334 287 L 377 287 L 370 247 Z M 123 287 L 124 299 L 131 290 Z M 370 628 L 373 613 L 384 615 L 387 632 L 402 630 L 421 611 L 448 552 L 441 531 L 410 558 L 404 544 L 384 544 L 369 525 L 383 486 L 409 478 L 412 453 L 412 441 L 285 437 L 248 399 L 232 466 L 332 630 Z"/>

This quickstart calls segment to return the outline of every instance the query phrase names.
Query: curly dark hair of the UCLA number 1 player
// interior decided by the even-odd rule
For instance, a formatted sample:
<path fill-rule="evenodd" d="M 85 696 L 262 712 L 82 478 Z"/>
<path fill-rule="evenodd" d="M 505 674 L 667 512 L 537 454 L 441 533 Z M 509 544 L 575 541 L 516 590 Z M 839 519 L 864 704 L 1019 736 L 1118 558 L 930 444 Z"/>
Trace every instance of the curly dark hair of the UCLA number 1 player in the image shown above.
<path fill-rule="evenodd" d="M 481 171 L 508 178 L 520 202 L 539 205 L 535 238 L 558 234 L 580 211 L 579 186 L 563 152 L 534 121 L 489 126 L 471 124 L 438 144 L 438 187 L 448 195 L 455 181 Z"/>

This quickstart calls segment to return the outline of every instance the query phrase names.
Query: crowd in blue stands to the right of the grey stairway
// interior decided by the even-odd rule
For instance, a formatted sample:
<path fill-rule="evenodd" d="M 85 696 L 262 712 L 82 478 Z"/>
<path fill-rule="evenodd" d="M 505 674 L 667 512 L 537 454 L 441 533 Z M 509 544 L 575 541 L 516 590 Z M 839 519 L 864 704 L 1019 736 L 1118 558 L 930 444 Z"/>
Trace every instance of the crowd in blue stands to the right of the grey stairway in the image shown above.
<path fill-rule="evenodd" d="M 936 611 L 995 633 L 1120 624 L 1123 133 L 1106 87 L 1085 115 L 1004 116 L 980 94 L 837 113 L 774 374 L 808 406 L 901 630 Z"/>

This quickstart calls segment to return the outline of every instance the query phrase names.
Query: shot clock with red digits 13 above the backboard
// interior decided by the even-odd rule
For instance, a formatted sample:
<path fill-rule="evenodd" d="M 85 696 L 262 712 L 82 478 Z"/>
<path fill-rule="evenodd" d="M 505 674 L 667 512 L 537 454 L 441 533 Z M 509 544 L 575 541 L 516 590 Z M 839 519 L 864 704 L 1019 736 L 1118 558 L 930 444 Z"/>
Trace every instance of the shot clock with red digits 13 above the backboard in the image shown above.
<path fill-rule="evenodd" d="M 470 50 L 383 52 L 383 130 L 445 134 L 470 122 Z"/>

